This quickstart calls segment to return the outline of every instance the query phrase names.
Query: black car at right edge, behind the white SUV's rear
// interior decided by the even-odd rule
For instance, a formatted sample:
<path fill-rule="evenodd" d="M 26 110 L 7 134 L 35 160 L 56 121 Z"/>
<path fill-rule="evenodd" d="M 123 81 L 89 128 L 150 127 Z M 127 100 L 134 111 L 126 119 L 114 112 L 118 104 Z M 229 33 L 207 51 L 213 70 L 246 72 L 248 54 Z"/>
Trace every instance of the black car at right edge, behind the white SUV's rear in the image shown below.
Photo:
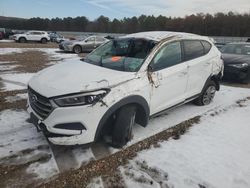
<path fill-rule="evenodd" d="M 222 49 L 226 81 L 250 82 L 250 43 L 238 42 L 226 44 Z"/>

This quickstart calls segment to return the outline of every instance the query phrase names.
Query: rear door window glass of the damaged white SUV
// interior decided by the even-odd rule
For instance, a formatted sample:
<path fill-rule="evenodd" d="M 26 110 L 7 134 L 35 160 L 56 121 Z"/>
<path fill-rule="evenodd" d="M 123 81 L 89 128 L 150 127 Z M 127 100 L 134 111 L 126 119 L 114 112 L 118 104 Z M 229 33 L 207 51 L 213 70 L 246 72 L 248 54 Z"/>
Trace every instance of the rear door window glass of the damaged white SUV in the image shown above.
<path fill-rule="evenodd" d="M 204 55 L 204 48 L 201 41 L 183 41 L 185 60 L 191 60 Z"/>

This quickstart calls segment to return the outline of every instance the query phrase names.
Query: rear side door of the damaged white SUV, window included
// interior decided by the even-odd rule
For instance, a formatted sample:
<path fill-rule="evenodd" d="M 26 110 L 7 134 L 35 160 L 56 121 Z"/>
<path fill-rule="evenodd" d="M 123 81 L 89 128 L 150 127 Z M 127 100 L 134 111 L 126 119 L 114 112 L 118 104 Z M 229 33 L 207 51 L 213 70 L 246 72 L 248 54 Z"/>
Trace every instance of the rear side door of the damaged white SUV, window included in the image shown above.
<path fill-rule="evenodd" d="M 184 40 L 184 60 L 188 65 L 187 98 L 199 94 L 212 71 L 211 44 L 201 40 Z"/>

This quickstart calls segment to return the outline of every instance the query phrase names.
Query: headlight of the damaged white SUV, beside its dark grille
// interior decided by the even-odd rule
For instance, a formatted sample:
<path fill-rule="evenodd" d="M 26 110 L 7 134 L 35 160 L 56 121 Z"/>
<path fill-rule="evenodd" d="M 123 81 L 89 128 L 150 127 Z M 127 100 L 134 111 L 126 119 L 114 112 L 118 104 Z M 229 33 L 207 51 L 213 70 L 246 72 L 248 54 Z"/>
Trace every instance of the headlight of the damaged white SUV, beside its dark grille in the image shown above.
<path fill-rule="evenodd" d="M 95 104 L 108 94 L 109 90 L 99 90 L 55 98 L 54 102 L 60 107 Z"/>

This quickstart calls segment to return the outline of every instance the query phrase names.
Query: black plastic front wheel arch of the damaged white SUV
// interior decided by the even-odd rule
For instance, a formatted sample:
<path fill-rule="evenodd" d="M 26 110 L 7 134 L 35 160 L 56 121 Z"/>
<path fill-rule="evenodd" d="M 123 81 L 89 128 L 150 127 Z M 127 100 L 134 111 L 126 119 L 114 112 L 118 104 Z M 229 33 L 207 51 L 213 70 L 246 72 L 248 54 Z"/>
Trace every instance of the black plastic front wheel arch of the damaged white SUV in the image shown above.
<path fill-rule="evenodd" d="M 139 95 L 128 96 L 120 100 L 119 102 L 115 103 L 114 105 L 112 105 L 108 109 L 108 111 L 106 111 L 105 114 L 102 116 L 96 129 L 95 141 L 98 140 L 102 135 L 102 132 L 106 127 L 105 123 L 107 122 L 107 120 L 115 112 L 117 112 L 117 110 L 129 104 L 136 105 L 137 107 L 136 118 L 135 118 L 136 123 L 140 124 L 143 127 L 147 126 L 150 114 L 148 102 L 142 96 Z"/>

